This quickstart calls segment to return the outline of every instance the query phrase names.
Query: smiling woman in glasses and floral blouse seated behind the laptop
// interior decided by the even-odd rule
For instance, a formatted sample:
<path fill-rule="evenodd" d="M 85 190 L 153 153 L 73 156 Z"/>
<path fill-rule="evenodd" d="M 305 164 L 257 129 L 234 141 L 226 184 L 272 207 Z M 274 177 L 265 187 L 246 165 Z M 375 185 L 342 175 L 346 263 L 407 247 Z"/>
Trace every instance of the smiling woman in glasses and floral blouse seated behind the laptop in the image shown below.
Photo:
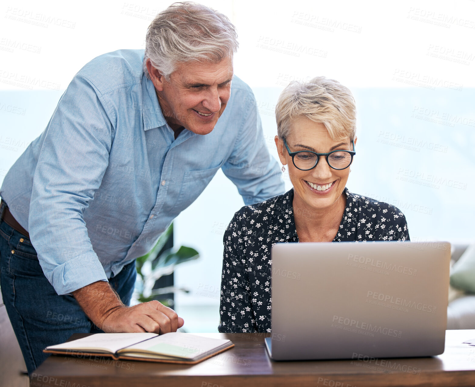
<path fill-rule="evenodd" d="M 294 188 L 241 208 L 229 223 L 220 332 L 270 332 L 277 242 L 409 240 L 398 208 L 345 187 L 356 153 L 355 116 L 350 90 L 324 77 L 293 82 L 280 95 L 275 140 Z"/>

